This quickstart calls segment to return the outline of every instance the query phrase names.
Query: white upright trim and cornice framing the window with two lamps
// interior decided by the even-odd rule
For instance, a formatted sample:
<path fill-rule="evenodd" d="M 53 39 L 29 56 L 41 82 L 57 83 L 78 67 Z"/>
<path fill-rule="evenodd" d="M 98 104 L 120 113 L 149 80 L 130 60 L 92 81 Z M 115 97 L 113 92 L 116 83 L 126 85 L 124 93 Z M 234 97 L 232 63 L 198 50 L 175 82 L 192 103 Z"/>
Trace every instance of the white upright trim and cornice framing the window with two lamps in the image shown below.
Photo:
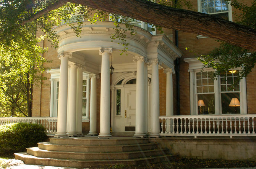
<path fill-rule="evenodd" d="M 190 115 L 198 115 L 197 94 L 196 94 L 196 72 L 201 70 L 203 63 L 196 58 L 184 59 L 189 64 L 188 72 L 190 72 Z M 212 70 L 211 68 L 205 69 Z M 246 78 L 240 81 L 240 114 L 247 114 L 247 96 L 246 96 Z M 215 115 L 222 114 L 221 110 L 221 92 L 220 92 L 220 77 L 214 80 L 215 93 Z M 216 92 L 217 91 L 217 92 Z"/>

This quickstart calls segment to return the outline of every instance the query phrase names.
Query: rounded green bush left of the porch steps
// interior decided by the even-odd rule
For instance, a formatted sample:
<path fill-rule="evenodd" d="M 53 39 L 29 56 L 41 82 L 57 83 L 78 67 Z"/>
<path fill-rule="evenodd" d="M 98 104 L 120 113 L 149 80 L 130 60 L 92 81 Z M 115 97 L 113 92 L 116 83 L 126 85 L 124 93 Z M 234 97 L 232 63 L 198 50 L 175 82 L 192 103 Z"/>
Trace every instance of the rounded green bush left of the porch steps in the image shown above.
<path fill-rule="evenodd" d="M 0 152 L 16 153 L 46 139 L 44 126 L 29 123 L 10 123 L 0 126 Z"/>

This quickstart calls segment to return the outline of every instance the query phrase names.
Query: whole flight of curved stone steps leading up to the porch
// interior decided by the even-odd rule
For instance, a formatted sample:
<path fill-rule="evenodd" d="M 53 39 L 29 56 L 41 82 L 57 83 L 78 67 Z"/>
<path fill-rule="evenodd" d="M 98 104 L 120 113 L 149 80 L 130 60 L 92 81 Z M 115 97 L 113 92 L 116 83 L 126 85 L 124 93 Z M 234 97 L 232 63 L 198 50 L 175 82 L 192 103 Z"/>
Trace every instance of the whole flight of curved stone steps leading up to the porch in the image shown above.
<path fill-rule="evenodd" d="M 25 164 L 60 167 L 136 165 L 168 161 L 171 157 L 157 143 L 132 137 L 50 138 L 50 142 L 38 143 L 27 152 L 15 153 L 15 158 Z"/>

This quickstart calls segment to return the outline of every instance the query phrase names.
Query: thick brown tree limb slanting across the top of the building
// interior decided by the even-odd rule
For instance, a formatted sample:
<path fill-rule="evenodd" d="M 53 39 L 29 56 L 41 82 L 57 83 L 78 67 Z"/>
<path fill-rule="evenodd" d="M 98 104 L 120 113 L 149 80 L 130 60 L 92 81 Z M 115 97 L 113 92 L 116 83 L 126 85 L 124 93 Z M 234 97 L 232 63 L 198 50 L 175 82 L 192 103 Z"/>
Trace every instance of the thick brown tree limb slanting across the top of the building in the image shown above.
<path fill-rule="evenodd" d="M 171 8 L 148 0 L 59 0 L 57 3 L 39 11 L 30 20 L 39 18 L 50 10 L 59 8 L 66 2 L 128 16 L 169 29 L 216 38 L 251 51 L 256 51 L 255 29 L 209 14 Z M 24 21 L 22 24 L 28 21 Z"/>

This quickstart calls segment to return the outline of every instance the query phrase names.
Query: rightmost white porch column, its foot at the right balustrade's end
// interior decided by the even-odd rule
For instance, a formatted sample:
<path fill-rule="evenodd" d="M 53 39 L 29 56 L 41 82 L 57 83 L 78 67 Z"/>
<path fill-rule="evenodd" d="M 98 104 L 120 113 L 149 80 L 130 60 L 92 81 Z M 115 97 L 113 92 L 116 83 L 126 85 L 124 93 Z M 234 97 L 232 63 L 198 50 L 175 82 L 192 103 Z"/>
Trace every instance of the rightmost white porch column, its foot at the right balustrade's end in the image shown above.
<path fill-rule="evenodd" d="M 166 115 L 173 116 L 173 84 L 172 69 L 164 69 L 166 74 Z"/>

